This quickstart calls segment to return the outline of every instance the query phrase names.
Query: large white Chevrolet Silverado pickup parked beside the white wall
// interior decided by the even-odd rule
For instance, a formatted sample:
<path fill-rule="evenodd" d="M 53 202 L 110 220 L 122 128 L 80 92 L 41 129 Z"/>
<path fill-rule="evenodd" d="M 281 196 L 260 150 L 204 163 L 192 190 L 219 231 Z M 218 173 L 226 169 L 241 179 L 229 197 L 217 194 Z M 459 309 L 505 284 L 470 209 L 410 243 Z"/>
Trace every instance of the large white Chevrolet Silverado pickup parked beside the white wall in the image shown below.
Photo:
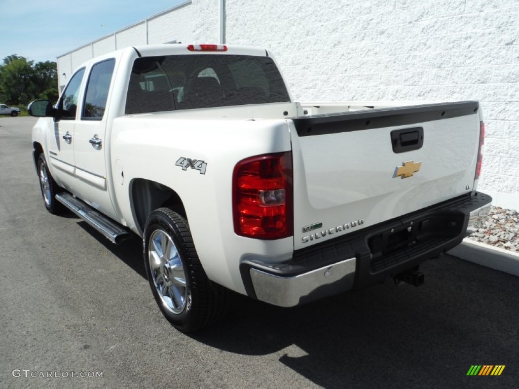
<path fill-rule="evenodd" d="M 294 102 L 265 49 L 129 47 L 29 113 L 47 210 L 139 235 L 182 331 L 220 317 L 228 289 L 291 307 L 419 285 L 489 211 L 479 103 Z"/>

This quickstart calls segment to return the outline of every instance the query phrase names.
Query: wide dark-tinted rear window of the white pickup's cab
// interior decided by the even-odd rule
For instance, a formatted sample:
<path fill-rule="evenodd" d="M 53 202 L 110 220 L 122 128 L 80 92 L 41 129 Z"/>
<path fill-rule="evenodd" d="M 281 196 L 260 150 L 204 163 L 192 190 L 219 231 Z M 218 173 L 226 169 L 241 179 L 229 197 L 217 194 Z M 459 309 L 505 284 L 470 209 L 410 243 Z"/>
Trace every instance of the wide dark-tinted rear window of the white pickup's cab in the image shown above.
<path fill-rule="evenodd" d="M 290 101 L 274 61 L 253 55 L 166 55 L 133 63 L 126 114 Z"/>

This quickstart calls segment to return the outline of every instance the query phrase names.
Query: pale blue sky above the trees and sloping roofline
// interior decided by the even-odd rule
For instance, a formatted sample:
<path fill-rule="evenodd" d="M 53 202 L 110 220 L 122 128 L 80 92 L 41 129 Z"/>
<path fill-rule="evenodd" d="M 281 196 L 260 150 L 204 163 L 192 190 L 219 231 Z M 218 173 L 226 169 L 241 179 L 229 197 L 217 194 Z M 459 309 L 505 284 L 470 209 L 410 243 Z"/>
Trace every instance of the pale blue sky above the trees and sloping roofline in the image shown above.
<path fill-rule="evenodd" d="M 0 0 L 0 61 L 56 57 L 185 0 Z"/>

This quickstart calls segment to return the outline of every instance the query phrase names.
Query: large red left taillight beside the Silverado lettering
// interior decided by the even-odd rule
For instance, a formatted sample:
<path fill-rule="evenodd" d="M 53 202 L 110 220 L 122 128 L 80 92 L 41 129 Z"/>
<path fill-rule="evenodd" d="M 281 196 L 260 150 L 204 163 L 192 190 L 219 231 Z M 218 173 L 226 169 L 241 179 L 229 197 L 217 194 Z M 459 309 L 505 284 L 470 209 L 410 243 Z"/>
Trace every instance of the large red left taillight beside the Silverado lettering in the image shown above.
<path fill-rule="evenodd" d="M 291 151 L 238 162 L 233 173 L 234 231 L 256 239 L 290 237 L 292 190 Z"/>

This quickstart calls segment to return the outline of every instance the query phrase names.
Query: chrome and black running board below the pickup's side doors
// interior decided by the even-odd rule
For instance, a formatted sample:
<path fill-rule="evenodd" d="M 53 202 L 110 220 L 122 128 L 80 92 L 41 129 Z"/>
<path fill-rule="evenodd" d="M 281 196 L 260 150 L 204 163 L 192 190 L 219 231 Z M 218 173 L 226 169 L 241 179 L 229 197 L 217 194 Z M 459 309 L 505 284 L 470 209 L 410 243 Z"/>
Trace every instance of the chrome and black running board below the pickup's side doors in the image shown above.
<path fill-rule="evenodd" d="M 85 220 L 90 226 L 98 230 L 108 240 L 119 244 L 131 238 L 131 233 L 115 223 L 115 221 L 107 218 L 100 212 L 94 210 L 90 205 L 70 193 L 58 193 L 56 200 L 74 212 L 81 219 Z"/>

